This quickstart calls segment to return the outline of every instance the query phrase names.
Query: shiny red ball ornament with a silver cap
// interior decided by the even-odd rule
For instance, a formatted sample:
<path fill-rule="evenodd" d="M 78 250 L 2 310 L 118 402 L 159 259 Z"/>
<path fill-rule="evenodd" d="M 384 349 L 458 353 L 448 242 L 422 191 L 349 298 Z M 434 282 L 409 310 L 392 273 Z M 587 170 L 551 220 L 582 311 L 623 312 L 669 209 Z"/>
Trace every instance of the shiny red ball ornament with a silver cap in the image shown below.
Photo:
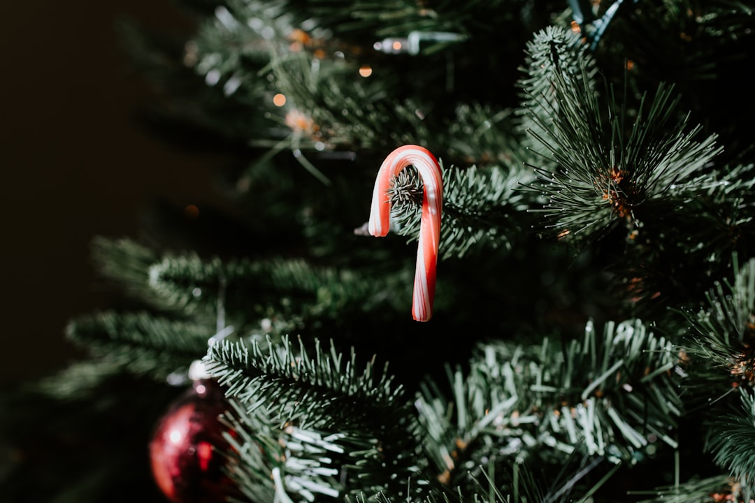
<path fill-rule="evenodd" d="M 216 382 L 197 379 L 160 419 L 149 443 L 149 459 L 155 482 L 168 500 L 214 503 L 233 492 L 218 450 L 228 446 L 218 420 L 226 406 Z"/>

